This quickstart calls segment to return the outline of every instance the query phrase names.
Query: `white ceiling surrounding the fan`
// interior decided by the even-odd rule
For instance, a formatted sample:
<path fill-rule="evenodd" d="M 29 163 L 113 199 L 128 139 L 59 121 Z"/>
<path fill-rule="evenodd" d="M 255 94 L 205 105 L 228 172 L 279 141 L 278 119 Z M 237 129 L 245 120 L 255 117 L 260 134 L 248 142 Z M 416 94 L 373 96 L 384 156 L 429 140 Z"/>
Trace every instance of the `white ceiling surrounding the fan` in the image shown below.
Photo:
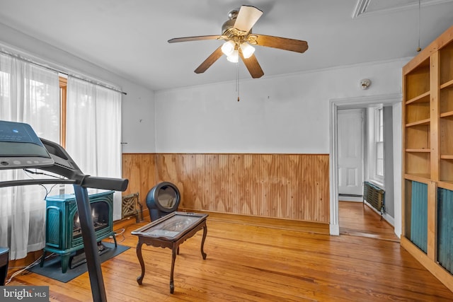
<path fill-rule="evenodd" d="M 236 79 L 225 57 L 193 72 L 222 41 L 167 40 L 220 35 L 228 12 L 242 4 L 264 11 L 253 33 L 309 44 L 304 54 L 256 47 L 261 79 L 417 54 L 418 0 L 1 0 L 0 23 L 161 90 Z M 421 0 L 422 48 L 452 25 L 452 0 Z M 242 63 L 239 77 L 250 79 Z"/>

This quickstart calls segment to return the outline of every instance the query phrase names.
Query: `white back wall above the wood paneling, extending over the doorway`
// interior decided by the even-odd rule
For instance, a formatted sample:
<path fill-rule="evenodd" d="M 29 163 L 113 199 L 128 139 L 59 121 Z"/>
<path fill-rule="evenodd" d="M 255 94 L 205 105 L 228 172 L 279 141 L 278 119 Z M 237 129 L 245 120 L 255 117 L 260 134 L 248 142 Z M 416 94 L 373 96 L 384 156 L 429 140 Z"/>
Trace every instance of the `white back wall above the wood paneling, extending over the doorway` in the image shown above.
<path fill-rule="evenodd" d="M 329 153 L 329 100 L 401 93 L 406 62 L 156 91 L 156 152 Z"/>

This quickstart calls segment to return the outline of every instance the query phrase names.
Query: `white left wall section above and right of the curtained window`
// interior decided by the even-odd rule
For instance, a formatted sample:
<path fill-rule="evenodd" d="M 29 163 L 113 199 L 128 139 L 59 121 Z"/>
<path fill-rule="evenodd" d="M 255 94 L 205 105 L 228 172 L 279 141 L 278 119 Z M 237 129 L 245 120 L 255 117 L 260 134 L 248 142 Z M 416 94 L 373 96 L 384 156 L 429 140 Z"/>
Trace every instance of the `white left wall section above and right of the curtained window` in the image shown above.
<path fill-rule="evenodd" d="M 154 92 L 139 86 L 84 59 L 75 57 L 45 42 L 0 23 L 2 50 L 21 52 L 35 62 L 62 71 L 72 71 L 104 83 L 119 86 L 122 96 L 123 153 L 152 153 L 154 145 Z"/>

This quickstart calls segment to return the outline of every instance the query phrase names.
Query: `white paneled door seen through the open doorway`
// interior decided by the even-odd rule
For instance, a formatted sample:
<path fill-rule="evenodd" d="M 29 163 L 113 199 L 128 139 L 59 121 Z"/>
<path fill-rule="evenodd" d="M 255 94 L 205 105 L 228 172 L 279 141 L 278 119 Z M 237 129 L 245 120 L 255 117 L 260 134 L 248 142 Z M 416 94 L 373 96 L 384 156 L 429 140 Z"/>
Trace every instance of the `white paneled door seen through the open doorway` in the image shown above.
<path fill-rule="evenodd" d="M 363 109 L 338 110 L 338 194 L 362 195 Z"/>

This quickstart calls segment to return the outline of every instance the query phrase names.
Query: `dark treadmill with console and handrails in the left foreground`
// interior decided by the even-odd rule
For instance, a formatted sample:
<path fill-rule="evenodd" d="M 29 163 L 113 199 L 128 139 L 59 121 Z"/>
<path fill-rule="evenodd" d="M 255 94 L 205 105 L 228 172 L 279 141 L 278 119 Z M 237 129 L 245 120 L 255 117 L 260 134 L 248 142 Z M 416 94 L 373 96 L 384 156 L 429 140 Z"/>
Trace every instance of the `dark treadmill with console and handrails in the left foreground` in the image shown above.
<path fill-rule="evenodd" d="M 7 180 L 0 182 L 0 187 L 74 185 L 93 301 L 107 301 L 87 189 L 124 192 L 129 180 L 85 175 L 62 146 L 47 139 L 40 139 L 29 124 L 0 120 L 0 170 L 26 168 L 38 168 L 64 178 Z"/>

